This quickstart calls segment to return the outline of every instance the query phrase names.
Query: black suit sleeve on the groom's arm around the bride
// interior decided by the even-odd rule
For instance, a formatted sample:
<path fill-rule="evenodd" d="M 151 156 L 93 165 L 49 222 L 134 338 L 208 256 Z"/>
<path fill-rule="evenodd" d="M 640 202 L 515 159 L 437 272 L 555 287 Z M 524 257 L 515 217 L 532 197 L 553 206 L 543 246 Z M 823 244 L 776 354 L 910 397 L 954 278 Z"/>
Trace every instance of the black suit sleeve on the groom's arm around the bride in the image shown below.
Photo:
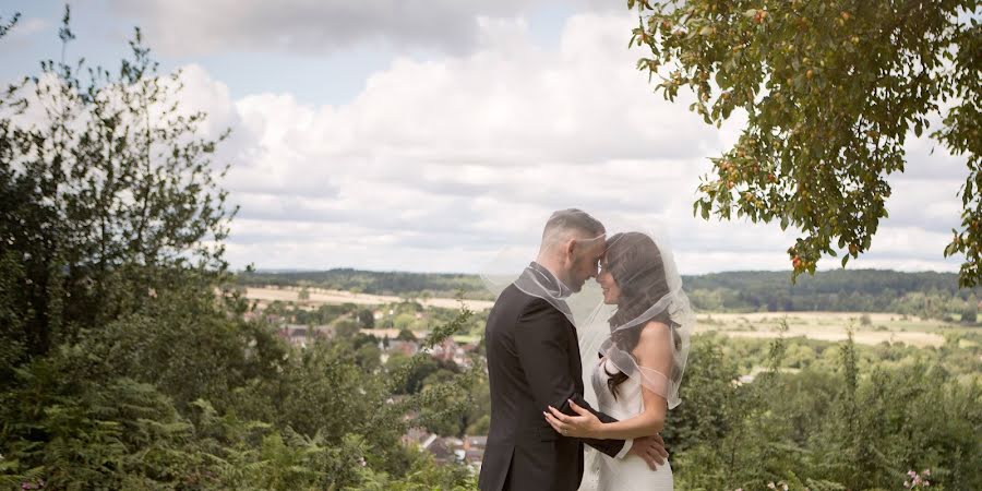
<path fill-rule="evenodd" d="M 576 384 L 570 373 L 567 349 L 570 336 L 573 334 L 563 314 L 546 301 L 532 302 L 518 318 L 515 326 L 515 349 L 518 361 L 528 380 L 536 404 L 543 411 L 552 406 L 567 415 L 576 412 L 570 407 L 573 399 L 603 422 L 614 422 L 603 412 L 597 411 L 576 391 Z M 623 440 L 580 439 L 584 443 L 603 452 L 611 457 L 622 457 Z"/>

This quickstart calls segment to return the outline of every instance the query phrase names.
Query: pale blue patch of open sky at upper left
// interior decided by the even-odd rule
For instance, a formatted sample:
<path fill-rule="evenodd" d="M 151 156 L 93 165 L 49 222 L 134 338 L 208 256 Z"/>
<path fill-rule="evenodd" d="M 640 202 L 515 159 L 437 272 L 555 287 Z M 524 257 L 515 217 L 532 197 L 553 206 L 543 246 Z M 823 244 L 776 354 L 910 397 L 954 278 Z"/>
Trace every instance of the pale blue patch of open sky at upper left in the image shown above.
<path fill-rule="evenodd" d="M 127 41 L 141 26 L 148 37 L 153 29 L 146 20 L 113 9 L 106 0 L 72 2 L 72 31 L 76 39 L 69 45 L 68 58 L 84 56 L 91 63 L 113 67 L 127 53 Z M 21 12 L 21 25 L 29 35 L 17 36 L 16 56 L 0 65 L 7 80 L 37 71 L 38 60 L 61 56 L 58 28 L 64 4 L 58 1 L 4 0 L 0 13 L 9 17 Z M 16 33 L 16 32 L 14 32 Z M 205 67 L 212 76 L 229 84 L 231 96 L 288 92 L 307 104 L 343 104 L 350 100 L 372 72 L 391 63 L 395 52 L 386 46 L 352 46 L 323 55 L 273 50 L 223 49 L 206 53 L 165 53 L 151 43 L 163 72 L 189 63 Z"/>

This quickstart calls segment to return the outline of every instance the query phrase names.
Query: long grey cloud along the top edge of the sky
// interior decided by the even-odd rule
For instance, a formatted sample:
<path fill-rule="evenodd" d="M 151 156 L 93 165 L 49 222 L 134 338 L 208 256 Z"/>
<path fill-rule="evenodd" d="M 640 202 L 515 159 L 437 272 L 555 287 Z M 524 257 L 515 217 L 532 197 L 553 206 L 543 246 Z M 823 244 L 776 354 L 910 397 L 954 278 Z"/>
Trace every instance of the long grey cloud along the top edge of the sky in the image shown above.
<path fill-rule="evenodd" d="M 466 52 L 479 23 L 548 4 L 542 0 L 113 0 L 175 55 L 232 50 L 326 53 L 356 45 Z M 584 2 L 577 2 L 584 3 Z M 596 3 L 596 2 L 595 2 Z M 626 10 L 624 5 L 618 4 Z"/>

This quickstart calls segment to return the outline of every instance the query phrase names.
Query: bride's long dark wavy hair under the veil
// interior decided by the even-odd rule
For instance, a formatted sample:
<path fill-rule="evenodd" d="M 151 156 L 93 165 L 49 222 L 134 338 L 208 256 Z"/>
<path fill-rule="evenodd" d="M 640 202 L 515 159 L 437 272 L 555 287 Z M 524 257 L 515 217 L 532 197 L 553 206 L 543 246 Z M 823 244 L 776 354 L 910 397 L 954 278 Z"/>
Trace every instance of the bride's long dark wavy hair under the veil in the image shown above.
<path fill-rule="evenodd" d="M 628 354 L 634 351 L 642 330 L 650 321 L 674 327 L 666 309 L 654 313 L 649 319 L 642 320 L 633 327 L 616 330 L 618 326 L 644 315 L 651 306 L 671 292 L 661 251 L 650 237 L 639 232 L 614 233 L 607 239 L 606 262 L 608 271 L 621 290 L 618 311 L 610 318 L 611 340 L 618 348 Z M 674 328 L 672 336 L 678 345 L 681 339 Z M 622 371 L 607 374 L 609 376 L 607 387 L 616 398 L 618 386 L 624 383 L 628 375 Z"/>

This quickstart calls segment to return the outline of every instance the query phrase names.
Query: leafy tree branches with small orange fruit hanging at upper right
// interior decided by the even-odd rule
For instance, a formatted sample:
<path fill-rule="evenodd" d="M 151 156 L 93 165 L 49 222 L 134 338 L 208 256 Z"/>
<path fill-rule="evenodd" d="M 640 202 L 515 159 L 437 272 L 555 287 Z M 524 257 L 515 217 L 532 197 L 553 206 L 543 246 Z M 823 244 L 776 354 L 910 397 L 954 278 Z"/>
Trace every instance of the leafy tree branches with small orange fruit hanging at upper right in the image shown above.
<path fill-rule="evenodd" d="M 794 277 L 823 256 L 870 250 L 903 143 L 931 133 L 967 157 L 961 225 L 945 256 L 963 255 L 959 283 L 982 278 L 982 7 L 975 0 L 628 0 L 639 13 L 638 69 L 674 100 L 719 125 L 735 109 L 738 143 L 712 158 L 694 212 L 801 231 Z"/>

